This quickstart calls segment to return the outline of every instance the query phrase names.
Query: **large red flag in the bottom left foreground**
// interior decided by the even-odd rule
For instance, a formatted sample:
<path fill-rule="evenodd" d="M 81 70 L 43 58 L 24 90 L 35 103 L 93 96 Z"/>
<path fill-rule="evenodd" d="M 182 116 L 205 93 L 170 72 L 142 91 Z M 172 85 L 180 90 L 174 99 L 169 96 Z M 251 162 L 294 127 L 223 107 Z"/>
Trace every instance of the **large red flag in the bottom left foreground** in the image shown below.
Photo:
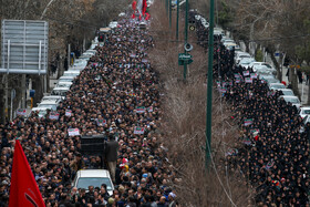
<path fill-rule="evenodd" d="M 9 207 L 44 207 L 27 157 L 17 141 L 14 148 Z"/>

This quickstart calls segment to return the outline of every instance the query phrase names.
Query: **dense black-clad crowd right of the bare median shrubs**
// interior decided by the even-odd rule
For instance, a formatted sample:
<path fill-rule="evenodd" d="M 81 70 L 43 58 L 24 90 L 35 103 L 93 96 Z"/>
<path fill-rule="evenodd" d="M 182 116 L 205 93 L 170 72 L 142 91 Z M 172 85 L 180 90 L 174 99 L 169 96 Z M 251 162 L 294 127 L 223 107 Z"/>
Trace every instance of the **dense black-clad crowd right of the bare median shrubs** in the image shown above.
<path fill-rule="evenodd" d="M 208 32 L 196 22 L 200 45 Z M 309 124 L 287 104 L 281 91 L 270 91 L 252 69 L 234 63 L 235 51 L 216 37 L 214 77 L 240 126 L 241 147 L 230 148 L 226 165 L 239 172 L 255 190 L 257 206 L 309 206 Z M 237 169 L 237 170 L 236 170 Z"/>

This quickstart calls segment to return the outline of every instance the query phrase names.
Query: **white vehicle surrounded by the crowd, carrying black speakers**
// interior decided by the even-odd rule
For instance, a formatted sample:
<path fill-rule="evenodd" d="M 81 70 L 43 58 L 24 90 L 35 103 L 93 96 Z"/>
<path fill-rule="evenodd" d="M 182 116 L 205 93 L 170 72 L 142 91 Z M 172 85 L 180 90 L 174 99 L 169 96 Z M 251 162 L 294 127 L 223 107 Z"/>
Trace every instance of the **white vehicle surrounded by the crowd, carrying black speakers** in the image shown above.
<path fill-rule="evenodd" d="M 114 185 L 112 183 L 108 170 L 106 169 L 81 169 L 76 173 L 72 186 L 78 189 L 84 188 L 89 190 L 89 186 L 101 187 L 102 184 L 106 185 L 106 190 L 110 196 L 113 195 Z"/>

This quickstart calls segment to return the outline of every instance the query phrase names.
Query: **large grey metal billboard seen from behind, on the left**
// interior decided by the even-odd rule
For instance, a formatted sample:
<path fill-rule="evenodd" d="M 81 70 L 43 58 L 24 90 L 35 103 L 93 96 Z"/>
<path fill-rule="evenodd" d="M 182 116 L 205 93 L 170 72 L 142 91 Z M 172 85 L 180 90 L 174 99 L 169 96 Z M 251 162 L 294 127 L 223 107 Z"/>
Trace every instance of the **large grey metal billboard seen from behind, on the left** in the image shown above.
<path fill-rule="evenodd" d="M 46 21 L 2 20 L 0 73 L 46 74 Z"/>

